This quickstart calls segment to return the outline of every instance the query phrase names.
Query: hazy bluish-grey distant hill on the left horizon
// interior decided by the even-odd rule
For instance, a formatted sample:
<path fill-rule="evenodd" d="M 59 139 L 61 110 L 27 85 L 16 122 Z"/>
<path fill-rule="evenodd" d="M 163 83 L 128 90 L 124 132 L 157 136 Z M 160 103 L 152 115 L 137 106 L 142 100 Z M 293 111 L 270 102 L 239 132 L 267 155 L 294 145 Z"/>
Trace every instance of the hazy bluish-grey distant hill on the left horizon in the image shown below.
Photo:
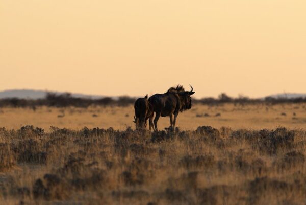
<path fill-rule="evenodd" d="M 46 90 L 34 90 L 34 89 L 11 89 L 11 90 L 4 90 L 0 92 L 0 99 L 4 98 L 19 98 L 19 99 L 41 99 L 44 98 L 47 94 Z M 56 94 L 63 94 L 65 92 L 52 92 Z M 77 98 L 90 98 L 90 99 L 98 99 L 103 98 L 105 96 L 99 95 L 84 95 L 78 93 L 71 93 L 72 97 Z"/>

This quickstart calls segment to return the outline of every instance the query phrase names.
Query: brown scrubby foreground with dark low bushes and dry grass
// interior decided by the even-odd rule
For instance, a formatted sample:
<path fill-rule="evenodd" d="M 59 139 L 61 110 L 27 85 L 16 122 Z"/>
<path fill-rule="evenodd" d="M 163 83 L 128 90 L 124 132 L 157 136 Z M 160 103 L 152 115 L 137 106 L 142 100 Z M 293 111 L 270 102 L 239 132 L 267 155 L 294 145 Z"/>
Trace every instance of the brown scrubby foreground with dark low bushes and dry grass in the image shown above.
<path fill-rule="evenodd" d="M 304 204 L 306 131 L 0 129 L 0 204 Z"/>

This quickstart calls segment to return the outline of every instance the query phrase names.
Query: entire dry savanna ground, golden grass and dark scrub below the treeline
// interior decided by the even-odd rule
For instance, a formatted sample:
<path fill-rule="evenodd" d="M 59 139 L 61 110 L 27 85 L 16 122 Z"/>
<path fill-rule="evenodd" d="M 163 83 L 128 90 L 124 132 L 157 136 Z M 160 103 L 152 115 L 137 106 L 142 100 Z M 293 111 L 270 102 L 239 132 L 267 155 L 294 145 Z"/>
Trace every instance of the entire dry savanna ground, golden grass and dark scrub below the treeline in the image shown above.
<path fill-rule="evenodd" d="M 305 204 L 306 104 L 0 109 L 0 204 Z"/>

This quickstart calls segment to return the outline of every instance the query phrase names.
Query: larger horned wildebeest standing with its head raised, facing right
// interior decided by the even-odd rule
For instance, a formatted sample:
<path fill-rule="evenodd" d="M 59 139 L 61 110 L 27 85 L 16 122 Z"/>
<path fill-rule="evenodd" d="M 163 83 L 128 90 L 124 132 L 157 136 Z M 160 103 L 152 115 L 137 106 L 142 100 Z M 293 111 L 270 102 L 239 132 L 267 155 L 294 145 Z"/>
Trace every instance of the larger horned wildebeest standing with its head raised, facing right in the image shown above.
<path fill-rule="evenodd" d="M 153 112 L 156 113 L 154 119 L 155 130 L 157 131 L 157 121 L 162 117 L 170 117 L 170 125 L 175 128 L 176 117 L 179 112 L 191 108 L 191 98 L 193 95 L 193 88 L 190 85 L 191 90 L 185 91 L 182 85 L 177 85 L 176 87 L 171 87 L 168 89 L 167 93 L 155 94 L 149 98 L 149 103 L 153 106 Z M 172 115 L 174 114 L 174 120 L 172 120 Z"/>

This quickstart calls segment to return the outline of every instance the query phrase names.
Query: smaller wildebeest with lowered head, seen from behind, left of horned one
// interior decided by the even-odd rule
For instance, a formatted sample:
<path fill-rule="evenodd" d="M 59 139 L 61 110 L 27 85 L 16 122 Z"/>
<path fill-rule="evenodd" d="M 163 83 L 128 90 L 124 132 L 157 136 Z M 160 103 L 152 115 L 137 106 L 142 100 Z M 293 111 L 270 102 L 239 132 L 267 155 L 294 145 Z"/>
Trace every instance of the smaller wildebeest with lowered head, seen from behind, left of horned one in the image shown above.
<path fill-rule="evenodd" d="M 153 107 L 148 101 L 148 95 L 144 98 L 138 98 L 134 104 L 135 116 L 133 121 L 136 124 L 136 129 L 145 128 L 147 120 L 149 119 L 150 130 L 151 127 L 154 129 L 152 118 L 153 118 Z"/>

